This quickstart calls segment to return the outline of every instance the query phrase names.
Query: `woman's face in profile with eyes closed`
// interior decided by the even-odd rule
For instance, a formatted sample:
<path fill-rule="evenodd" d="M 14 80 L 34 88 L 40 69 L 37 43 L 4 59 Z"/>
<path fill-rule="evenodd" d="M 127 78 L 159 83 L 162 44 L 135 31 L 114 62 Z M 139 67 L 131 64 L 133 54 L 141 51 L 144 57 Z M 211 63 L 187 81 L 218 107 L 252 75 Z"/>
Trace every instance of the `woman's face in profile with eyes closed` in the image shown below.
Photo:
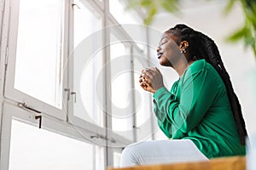
<path fill-rule="evenodd" d="M 177 47 L 177 37 L 165 32 L 159 42 L 157 48 L 157 57 L 160 60 L 160 65 L 172 66 L 180 59 L 181 53 Z"/>

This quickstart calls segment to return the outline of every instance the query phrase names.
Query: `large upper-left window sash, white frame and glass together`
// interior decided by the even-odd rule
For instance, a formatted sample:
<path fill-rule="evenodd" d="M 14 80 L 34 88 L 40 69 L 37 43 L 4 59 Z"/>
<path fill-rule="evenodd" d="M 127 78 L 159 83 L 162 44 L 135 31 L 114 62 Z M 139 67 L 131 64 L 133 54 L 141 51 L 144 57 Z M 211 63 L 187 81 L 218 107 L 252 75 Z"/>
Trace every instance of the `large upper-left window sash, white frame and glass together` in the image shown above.
<path fill-rule="evenodd" d="M 63 63 L 67 59 L 64 0 L 11 0 L 6 29 L 5 97 L 16 104 L 66 119 Z M 4 47 L 3 47 L 4 48 Z M 66 49 L 66 50 L 65 50 Z M 18 104 L 17 104 L 18 105 Z"/>

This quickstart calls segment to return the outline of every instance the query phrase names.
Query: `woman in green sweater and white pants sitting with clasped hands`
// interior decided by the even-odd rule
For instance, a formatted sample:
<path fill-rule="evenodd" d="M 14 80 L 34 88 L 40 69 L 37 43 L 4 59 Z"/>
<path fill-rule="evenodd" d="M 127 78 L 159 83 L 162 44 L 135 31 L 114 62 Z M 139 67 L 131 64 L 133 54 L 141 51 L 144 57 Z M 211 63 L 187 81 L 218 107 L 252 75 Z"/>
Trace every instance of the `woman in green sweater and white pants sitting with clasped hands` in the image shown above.
<path fill-rule="evenodd" d="M 179 79 L 168 91 L 160 71 L 150 68 L 139 82 L 153 94 L 158 125 L 169 140 L 127 146 L 121 167 L 245 155 L 241 105 L 212 39 L 177 25 L 164 32 L 157 54 L 160 65 L 172 67 Z"/>

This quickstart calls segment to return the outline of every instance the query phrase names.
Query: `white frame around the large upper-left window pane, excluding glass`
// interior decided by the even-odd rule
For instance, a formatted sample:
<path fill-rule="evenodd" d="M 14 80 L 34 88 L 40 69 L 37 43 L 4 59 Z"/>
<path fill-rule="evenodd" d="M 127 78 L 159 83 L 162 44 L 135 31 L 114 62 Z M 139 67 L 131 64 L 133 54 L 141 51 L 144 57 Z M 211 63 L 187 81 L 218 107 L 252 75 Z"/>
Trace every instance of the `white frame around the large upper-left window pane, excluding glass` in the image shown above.
<path fill-rule="evenodd" d="M 9 27 L 6 27 L 5 29 L 9 29 L 8 35 L 4 35 L 8 37 L 8 43 L 6 47 L 3 47 L 6 49 L 5 55 L 7 56 L 7 71 L 6 71 L 6 82 L 5 82 L 5 93 L 4 96 L 7 99 L 14 100 L 18 103 L 26 103 L 29 107 L 31 107 L 34 110 L 44 112 L 46 114 L 49 114 L 49 116 L 55 116 L 61 120 L 65 120 L 67 118 L 65 107 L 62 107 L 62 109 L 58 109 L 53 105 L 49 105 L 44 103 L 43 101 L 39 99 L 35 99 L 30 95 L 24 94 L 20 92 L 19 90 L 14 88 L 15 85 L 15 60 L 16 60 L 16 42 L 17 42 L 17 34 L 18 34 L 18 21 L 19 21 L 19 4 L 20 0 L 10 0 L 9 1 L 9 7 L 6 7 L 7 10 L 10 9 L 10 11 L 6 11 L 6 14 L 9 14 L 9 23 L 7 24 Z M 65 1 L 65 7 L 64 10 L 66 10 L 67 2 Z M 66 11 L 65 11 L 66 14 Z M 67 15 L 65 17 L 65 23 L 67 23 Z M 65 26 L 63 26 L 65 27 Z M 64 29 L 64 37 L 63 42 L 67 42 L 67 30 Z M 66 49 L 67 43 L 63 44 L 63 49 Z M 60 49 L 61 50 L 61 49 Z M 63 50 L 63 62 L 65 63 L 67 58 L 67 50 Z M 65 84 L 65 81 L 67 78 L 65 75 L 63 75 L 63 86 Z M 64 92 L 62 92 L 62 96 L 64 96 Z M 65 105 L 65 99 L 63 99 L 63 102 Z"/>

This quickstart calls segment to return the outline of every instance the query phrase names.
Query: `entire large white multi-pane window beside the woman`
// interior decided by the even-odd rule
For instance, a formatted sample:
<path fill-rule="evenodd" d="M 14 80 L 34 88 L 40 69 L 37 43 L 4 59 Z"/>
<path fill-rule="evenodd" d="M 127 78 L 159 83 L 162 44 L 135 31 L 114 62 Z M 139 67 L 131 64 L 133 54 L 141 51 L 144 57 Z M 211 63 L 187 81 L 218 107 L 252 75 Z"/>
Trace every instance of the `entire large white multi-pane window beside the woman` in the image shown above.
<path fill-rule="evenodd" d="M 3 3 L 0 168 L 119 167 L 122 148 L 136 141 L 135 126 L 143 123 L 136 116 L 132 48 L 145 48 L 133 42 L 139 29 L 108 28 L 142 20 L 126 13 L 122 1 Z"/>

